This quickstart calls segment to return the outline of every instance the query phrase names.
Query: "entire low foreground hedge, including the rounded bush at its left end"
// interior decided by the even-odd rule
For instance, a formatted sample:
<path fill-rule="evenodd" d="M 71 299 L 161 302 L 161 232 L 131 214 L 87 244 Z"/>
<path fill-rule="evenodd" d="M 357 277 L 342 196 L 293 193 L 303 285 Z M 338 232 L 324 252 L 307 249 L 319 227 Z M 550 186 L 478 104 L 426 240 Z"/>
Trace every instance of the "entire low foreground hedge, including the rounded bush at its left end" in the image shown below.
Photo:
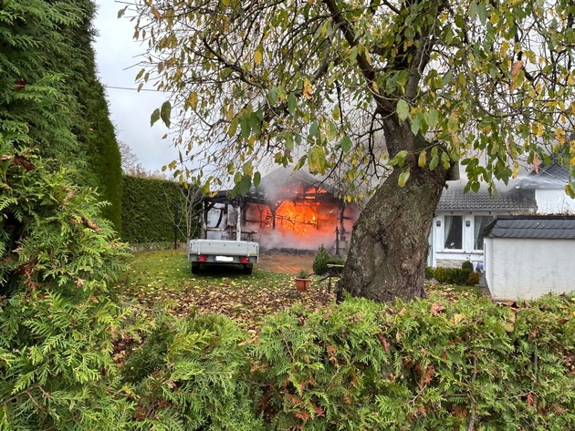
<path fill-rule="evenodd" d="M 270 316 L 255 339 L 167 317 L 123 375 L 139 429 L 575 429 L 574 315 L 565 297 L 353 299 Z"/>

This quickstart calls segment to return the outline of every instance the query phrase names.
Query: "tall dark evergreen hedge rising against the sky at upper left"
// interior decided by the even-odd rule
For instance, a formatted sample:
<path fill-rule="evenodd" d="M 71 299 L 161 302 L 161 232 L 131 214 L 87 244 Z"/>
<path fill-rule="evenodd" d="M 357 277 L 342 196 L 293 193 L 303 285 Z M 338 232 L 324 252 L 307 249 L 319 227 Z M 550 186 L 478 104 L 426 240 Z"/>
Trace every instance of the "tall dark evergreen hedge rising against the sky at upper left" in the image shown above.
<path fill-rule="evenodd" d="M 96 77 L 92 0 L 6 0 L 0 8 L 0 134 L 98 188 L 120 231 L 120 150 Z M 55 164 L 54 166 L 57 166 Z"/>

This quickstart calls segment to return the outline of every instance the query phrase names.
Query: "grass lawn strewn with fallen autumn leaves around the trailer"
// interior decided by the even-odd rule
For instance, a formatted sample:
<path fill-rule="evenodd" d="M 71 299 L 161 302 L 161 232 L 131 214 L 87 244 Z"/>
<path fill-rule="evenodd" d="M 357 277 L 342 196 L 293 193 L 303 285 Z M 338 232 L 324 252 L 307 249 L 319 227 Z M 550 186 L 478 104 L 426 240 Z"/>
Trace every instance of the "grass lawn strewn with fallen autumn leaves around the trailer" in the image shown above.
<path fill-rule="evenodd" d="M 279 263 L 278 263 L 279 262 Z M 317 309 L 335 301 L 327 292 L 328 282 L 313 276 L 308 292 L 296 291 L 294 263 L 310 268 L 313 256 L 287 254 L 267 258 L 262 255 L 252 275 L 240 266 L 212 266 L 192 274 L 184 251 L 148 251 L 135 253 L 130 267 L 120 280 L 120 295 L 136 301 L 147 310 L 168 307 L 172 313 L 224 313 L 249 331 L 256 331 L 264 316 L 294 303 Z M 288 269 L 287 269 L 288 268 Z M 288 273 L 290 272 L 290 273 Z M 480 294 L 479 288 L 429 285 L 428 292 L 446 298 Z"/>

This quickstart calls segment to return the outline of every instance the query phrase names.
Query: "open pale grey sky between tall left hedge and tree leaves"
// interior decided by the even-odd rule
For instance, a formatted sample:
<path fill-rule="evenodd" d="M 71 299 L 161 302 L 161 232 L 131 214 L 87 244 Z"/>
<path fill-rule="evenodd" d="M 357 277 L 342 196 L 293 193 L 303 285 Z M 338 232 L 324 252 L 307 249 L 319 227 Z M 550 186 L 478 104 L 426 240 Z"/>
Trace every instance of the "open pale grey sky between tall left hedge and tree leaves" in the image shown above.
<path fill-rule="evenodd" d="M 144 168 L 161 169 L 173 159 L 177 150 L 172 139 L 162 140 L 168 131 L 162 121 L 150 127 L 150 116 L 154 108 L 160 108 L 165 96 L 152 91 L 137 92 L 134 77 L 140 67 L 133 67 L 137 56 L 143 52 L 140 43 L 134 41 L 133 23 L 129 19 L 118 19 L 122 5 L 113 0 L 96 0 L 99 6 L 94 26 L 99 32 L 94 48 L 98 64 L 99 80 L 106 87 L 110 106 L 110 117 L 116 126 L 119 140 L 130 145 Z M 144 87 L 145 88 L 145 87 Z M 149 86 L 152 89 L 152 86 Z"/>

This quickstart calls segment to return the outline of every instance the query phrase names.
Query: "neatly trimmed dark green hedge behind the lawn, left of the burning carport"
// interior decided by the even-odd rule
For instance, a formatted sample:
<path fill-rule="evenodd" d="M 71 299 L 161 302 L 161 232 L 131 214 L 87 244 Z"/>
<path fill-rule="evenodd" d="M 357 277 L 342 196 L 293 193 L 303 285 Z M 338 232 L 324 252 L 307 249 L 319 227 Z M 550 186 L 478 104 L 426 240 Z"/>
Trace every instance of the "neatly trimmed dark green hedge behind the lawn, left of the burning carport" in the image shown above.
<path fill-rule="evenodd" d="M 130 175 L 122 176 L 122 240 L 173 241 L 174 216 L 178 209 L 178 241 L 186 240 L 185 197 L 177 182 Z M 198 221 L 194 222 L 197 232 Z"/>

